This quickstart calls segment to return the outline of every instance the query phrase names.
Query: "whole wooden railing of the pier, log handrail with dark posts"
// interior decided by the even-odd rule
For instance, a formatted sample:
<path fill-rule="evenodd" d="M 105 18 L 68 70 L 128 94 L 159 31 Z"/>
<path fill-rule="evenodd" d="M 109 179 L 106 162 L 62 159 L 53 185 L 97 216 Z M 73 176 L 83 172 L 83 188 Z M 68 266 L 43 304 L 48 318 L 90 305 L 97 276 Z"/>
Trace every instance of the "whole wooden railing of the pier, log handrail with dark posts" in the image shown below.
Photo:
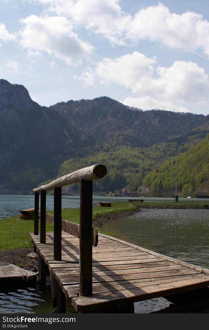
<path fill-rule="evenodd" d="M 62 230 L 80 239 L 80 296 L 92 295 L 92 246 L 98 244 L 98 232 L 92 228 L 92 183 L 104 178 L 106 173 L 105 165 L 95 164 L 33 189 L 34 235 L 39 233 L 39 216 L 40 243 L 46 243 L 46 221 L 54 224 L 54 260 L 62 260 Z M 76 182 L 80 182 L 80 224 L 62 219 L 62 187 Z M 50 215 L 46 213 L 46 191 L 53 189 L 54 215 Z"/>

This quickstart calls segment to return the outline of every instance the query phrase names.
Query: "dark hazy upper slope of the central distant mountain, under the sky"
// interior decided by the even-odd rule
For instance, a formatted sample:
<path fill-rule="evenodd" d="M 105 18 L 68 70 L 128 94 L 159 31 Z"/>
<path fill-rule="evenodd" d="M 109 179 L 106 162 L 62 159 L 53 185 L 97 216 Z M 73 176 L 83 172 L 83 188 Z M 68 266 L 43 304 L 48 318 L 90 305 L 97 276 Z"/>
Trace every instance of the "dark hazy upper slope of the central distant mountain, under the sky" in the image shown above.
<path fill-rule="evenodd" d="M 80 128 L 96 151 L 119 146 L 150 147 L 168 137 L 190 132 L 208 122 L 206 116 L 162 110 L 141 111 L 108 97 L 58 103 L 50 109 Z M 91 142 L 90 142 L 91 141 Z"/>

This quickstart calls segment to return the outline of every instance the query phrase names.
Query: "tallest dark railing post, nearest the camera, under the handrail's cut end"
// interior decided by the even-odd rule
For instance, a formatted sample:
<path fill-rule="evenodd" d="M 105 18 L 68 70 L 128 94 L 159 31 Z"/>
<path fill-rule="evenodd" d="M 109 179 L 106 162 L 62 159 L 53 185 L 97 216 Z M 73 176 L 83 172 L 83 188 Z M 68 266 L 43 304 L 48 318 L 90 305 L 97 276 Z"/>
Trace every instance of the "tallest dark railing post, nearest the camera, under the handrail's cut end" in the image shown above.
<path fill-rule="evenodd" d="M 80 296 L 92 295 L 92 181 L 80 182 Z"/>

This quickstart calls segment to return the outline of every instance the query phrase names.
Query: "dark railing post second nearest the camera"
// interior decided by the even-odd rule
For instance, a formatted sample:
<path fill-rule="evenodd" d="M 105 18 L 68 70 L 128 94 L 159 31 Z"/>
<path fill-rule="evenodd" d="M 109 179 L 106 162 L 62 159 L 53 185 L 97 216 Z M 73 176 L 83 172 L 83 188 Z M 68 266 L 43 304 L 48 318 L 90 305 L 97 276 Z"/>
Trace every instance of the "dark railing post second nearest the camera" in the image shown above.
<path fill-rule="evenodd" d="M 62 260 L 62 187 L 54 188 L 54 260 Z"/>

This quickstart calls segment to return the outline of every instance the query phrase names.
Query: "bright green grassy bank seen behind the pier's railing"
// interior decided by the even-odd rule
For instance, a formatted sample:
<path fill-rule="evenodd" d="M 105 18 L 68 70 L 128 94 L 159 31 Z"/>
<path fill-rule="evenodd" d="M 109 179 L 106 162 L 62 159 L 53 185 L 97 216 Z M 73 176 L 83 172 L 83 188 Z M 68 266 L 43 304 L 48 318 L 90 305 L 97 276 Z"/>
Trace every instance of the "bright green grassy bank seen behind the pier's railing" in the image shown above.
<path fill-rule="evenodd" d="M 132 205 L 128 202 L 116 202 L 112 203 L 112 207 L 93 208 L 93 219 L 106 215 L 109 213 L 127 212 L 136 209 L 136 205 Z M 47 213 L 53 214 L 53 211 L 47 211 Z M 71 222 L 79 223 L 79 208 L 75 209 L 62 209 L 62 218 Z M 9 218 L 0 220 L 0 249 L 12 249 L 12 248 L 25 248 L 32 246 L 29 232 L 33 232 L 33 219 L 21 219 L 20 215 L 14 215 Z M 98 232 L 111 235 L 102 229 L 93 226 Z M 39 220 L 40 228 L 40 220 Z M 50 223 L 46 223 L 46 231 L 53 231 L 54 227 Z M 113 236 L 113 235 L 111 235 Z"/>

